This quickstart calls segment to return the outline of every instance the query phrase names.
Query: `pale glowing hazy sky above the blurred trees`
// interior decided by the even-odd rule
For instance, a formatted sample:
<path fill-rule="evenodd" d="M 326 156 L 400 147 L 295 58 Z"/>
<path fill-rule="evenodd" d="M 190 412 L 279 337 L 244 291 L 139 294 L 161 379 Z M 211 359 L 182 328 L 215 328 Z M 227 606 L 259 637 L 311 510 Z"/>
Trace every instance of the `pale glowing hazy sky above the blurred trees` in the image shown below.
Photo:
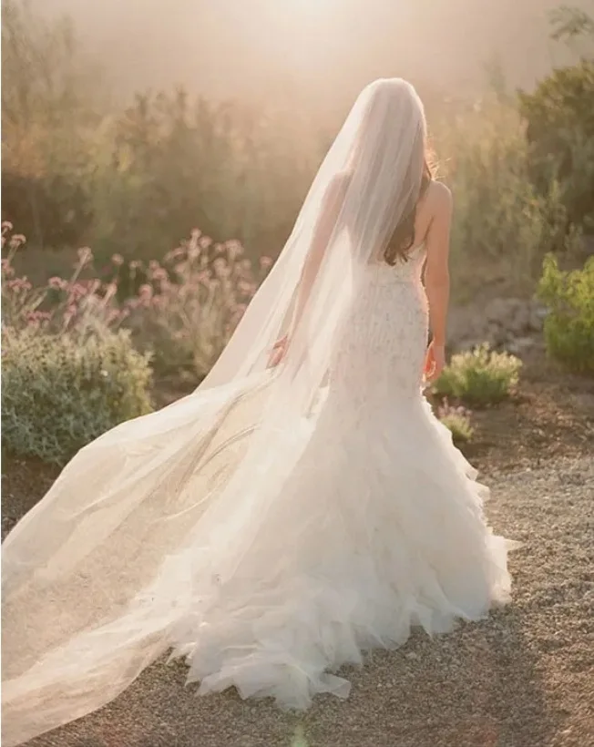
<path fill-rule="evenodd" d="M 466 95 L 485 87 L 486 66 L 499 66 L 510 87 L 531 87 L 573 59 L 549 38 L 558 0 L 32 2 L 71 15 L 124 96 L 182 84 L 210 97 L 300 93 L 332 103 L 396 75 Z"/>

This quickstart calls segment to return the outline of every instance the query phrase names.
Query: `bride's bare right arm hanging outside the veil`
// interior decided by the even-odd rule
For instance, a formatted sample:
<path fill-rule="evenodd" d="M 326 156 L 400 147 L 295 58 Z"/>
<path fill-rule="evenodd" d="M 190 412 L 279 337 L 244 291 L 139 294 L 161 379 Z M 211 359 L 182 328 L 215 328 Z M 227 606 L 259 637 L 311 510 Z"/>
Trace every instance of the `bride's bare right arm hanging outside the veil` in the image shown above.
<path fill-rule="evenodd" d="M 439 348 L 446 345 L 447 307 L 450 294 L 448 255 L 451 221 L 452 194 L 445 184 L 436 183 L 435 210 L 426 238 L 425 291 L 429 301 L 432 343 Z"/>

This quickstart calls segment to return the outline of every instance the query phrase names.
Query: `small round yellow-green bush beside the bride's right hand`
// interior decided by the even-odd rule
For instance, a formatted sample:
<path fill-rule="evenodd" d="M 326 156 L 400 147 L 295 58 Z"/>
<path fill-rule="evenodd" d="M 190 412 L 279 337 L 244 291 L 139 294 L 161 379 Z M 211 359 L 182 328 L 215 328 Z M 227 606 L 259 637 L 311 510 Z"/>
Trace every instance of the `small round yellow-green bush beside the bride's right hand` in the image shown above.
<path fill-rule="evenodd" d="M 476 406 L 497 404 L 517 386 L 522 362 L 510 353 L 491 351 L 487 344 L 452 356 L 435 382 L 435 394 Z"/>

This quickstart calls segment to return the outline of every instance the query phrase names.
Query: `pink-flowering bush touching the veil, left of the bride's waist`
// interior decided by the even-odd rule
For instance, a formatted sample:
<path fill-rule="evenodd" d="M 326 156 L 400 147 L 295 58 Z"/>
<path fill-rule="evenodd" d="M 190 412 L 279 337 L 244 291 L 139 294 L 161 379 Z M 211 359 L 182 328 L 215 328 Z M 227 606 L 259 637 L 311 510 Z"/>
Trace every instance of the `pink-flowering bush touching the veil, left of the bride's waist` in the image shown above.
<path fill-rule="evenodd" d="M 128 323 L 138 346 L 153 351 L 159 373 L 185 370 L 200 381 L 210 371 L 271 265 L 262 257 L 255 273 L 242 255 L 238 241 L 213 245 L 194 230 L 162 265 L 133 264 L 148 282 L 125 304 Z"/>

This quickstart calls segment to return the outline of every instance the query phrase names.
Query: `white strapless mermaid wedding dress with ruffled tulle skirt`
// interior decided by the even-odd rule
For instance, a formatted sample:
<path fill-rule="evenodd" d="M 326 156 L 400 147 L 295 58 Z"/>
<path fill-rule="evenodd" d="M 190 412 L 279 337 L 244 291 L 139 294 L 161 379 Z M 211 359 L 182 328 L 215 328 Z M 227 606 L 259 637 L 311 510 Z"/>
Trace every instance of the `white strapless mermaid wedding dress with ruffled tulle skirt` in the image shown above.
<path fill-rule="evenodd" d="M 216 560 L 211 583 L 197 579 L 195 614 L 174 642 L 200 692 L 234 685 L 298 708 L 319 692 L 346 697 L 349 682 L 331 671 L 364 650 L 509 598 L 511 543 L 486 527 L 486 488 L 421 391 L 424 260 L 420 247 L 369 266 L 281 499 L 230 585 Z M 232 553 L 221 547 L 225 564 Z M 178 562 L 182 574 L 195 565 Z"/>

